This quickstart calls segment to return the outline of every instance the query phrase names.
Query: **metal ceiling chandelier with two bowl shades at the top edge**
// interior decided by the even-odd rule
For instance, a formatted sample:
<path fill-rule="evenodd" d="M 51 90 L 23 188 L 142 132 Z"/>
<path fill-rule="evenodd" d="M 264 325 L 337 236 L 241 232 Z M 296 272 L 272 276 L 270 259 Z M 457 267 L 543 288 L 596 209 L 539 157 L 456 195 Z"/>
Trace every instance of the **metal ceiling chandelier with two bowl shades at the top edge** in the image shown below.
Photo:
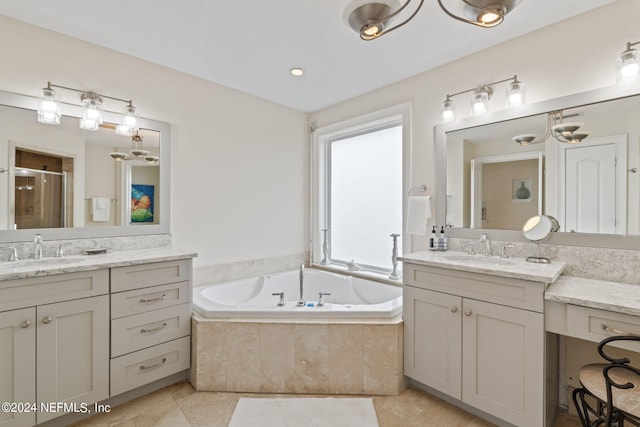
<path fill-rule="evenodd" d="M 345 21 L 355 32 L 360 34 L 362 40 L 374 40 L 402 27 L 416 16 L 420 8 L 422 8 L 424 0 L 418 0 L 418 5 L 415 6 L 413 12 L 407 13 L 408 16 L 403 21 L 389 27 L 407 9 L 411 1 L 407 0 L 402 6 L 399 6 L 399 3 L 395 0 L 374 0 L 371 3 L 364 4 L 362 0 L 352 0 L 345 9 Z M 504 21 L 505 15 L 513 10 L 517 1 L 455 0 L 460 6 L 460 14 L 464 15 L 464 17 L 451 12 L 442 0 L 438 0 L 438 4 L 444 13 L 453 19 L 478 27 L 492 28 Z"/>

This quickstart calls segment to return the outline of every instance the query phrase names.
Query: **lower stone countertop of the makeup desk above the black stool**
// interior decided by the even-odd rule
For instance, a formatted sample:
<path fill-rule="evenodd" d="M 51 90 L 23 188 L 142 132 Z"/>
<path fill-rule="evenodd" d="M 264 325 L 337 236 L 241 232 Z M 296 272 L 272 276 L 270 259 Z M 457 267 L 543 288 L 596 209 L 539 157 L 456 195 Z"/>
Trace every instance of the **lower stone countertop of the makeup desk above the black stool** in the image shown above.
<path fill-rule="evenodd" d="M 561 276 L 544 293 L 544 299 L 564 304 L 640 315 L 640 285 Z"/>

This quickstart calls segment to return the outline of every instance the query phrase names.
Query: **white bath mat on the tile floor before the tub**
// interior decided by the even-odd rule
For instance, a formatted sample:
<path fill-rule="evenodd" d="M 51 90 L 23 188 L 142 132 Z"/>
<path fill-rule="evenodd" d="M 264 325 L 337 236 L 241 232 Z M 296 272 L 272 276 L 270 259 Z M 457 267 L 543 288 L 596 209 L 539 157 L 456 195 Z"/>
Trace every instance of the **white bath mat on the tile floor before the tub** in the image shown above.
<path fill-rule="evenodd" d="M 371 398 L 241 397 L 229 427 L 379 427 Z"/>

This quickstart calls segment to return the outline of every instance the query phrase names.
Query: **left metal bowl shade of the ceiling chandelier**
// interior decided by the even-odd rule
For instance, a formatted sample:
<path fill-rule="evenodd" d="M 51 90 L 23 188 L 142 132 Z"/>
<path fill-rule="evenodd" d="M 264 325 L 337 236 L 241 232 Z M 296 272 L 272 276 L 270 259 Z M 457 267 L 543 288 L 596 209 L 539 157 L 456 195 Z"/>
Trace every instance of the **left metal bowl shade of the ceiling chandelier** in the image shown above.
<path fill-rule="evenodd" d="M 398 7 L 399 3 L 395 0 L 378 0 L 365 4 L 362 4 L 362 0 L 354 0 L 345 9 L 345 20 L 355 32 L 360 34 L 362 40 L 374 40 L 402 27 L 416 16 L 424 0 L 418 1 L 418 6 L 405 20 L 389 27 L 390 23 L 402 14 L 411 1 L 407 0 Z"/>

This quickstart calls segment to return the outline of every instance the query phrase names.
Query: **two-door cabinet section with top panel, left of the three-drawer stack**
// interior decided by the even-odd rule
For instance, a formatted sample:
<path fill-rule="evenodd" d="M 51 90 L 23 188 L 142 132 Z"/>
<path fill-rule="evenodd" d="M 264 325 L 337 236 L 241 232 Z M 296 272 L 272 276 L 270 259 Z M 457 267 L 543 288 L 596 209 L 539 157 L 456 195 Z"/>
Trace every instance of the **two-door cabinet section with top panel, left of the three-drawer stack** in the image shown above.
<path fill-rule="evenodd" d="M 0 313 L 0 401 L 36 405 L 1 412 L 0 426 L 65 413 L 43 404 L 79 407 L 109 396 L 109 344 L 101 339 L 109 334 L 108 292 L 108 270 L 0 282 L 0 307 L 9 309 Z"/>

